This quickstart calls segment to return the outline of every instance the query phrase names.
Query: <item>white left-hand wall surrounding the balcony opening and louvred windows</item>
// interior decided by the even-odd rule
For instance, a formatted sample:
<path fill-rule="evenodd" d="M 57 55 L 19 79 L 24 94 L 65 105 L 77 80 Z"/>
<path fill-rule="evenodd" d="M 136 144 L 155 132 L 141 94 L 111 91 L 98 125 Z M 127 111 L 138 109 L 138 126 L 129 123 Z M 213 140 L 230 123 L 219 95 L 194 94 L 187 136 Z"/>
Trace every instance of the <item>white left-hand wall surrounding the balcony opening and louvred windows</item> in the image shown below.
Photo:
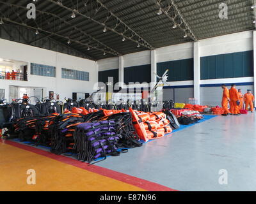
<path fill-rule="evenodd" d="M 0 80 L 1 89 L 5 89 L 5 97 L 9 96 L 9 85 L 23 87 L 44 87 L 44 96 L 48 96 L 49 91 L 60 94 L 60 99 L 72 98 L 72 92 L 93 92 L 93 85 L 98 80 L 98 68 L 95 61 L 82 59 L 71 55 L 45 50 L 43 48 L 32 47 L 13 41 L 0 39 L 0 57 L 13 61 L 28 62 L 28 82 Z M 30 75 L 30 63 L 56 66 L 56 78 Z M 61 78 L 61 68 L 88 71 L 90 82 L 79 80 L 68 80 Z"/>

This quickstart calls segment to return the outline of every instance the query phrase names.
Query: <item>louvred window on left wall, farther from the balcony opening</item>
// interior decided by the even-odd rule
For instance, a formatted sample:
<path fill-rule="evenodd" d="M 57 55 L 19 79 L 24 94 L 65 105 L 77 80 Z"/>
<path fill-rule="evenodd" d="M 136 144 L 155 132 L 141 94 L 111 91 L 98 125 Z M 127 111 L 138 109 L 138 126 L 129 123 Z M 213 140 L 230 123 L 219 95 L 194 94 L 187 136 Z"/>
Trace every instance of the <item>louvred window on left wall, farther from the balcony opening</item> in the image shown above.
<path fill-rule="evenodd" d="M 77 71 L 74 69 L 65 69 L 61 70 L 62 78 L 68 78 L 73 80 L 89 81 L 89 73 L 86 71 Z"/>

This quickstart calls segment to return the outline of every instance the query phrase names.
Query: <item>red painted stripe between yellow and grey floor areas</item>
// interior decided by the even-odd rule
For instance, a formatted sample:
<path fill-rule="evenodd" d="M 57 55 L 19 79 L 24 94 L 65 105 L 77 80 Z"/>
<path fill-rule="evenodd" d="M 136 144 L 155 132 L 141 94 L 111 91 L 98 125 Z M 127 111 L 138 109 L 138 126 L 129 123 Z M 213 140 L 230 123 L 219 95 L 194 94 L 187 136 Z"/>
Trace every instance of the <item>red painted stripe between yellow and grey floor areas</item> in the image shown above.
<path fill-rule="evenodd" d="M 95 165 L 88 166 L 88 164 L 76 161 L 75 159 L 52 154 L 51 152 L 46 152 L 44 150 L 36 149 L 35 147 L 30 147 L 28 145 L 23 145 L 21 143 L 12 142 L 9 140 L 4 141 L 4 143 L 12 145 L 14 147 L 18 147 L 20 149 L 28 150 L 29 152 L 40 154 L 45 157 L 49 157 L 51 159 L 55 159 L 57 161 L 61 161 L 66 164 L 70 164 L 72 166 L 76 166 L 78 168 L 82 168 L 84 170 L 92 171 L 93 173 L 98 173 L 111 179 L 120 180 L 122 182 L 140 187 L 141 189 L 145 189 L 147 191 L 177 191 L 175 189 L 171 189 L 170 187 L 162 186 L 160 184 L 156 184 L 154 182 L 150 182 L 144 179 L 139 179 L 137 177 L 132 177 L 130 175 L 120 173 L 118 171 L 109 170 L 108 168 L 103 168 Z"/>

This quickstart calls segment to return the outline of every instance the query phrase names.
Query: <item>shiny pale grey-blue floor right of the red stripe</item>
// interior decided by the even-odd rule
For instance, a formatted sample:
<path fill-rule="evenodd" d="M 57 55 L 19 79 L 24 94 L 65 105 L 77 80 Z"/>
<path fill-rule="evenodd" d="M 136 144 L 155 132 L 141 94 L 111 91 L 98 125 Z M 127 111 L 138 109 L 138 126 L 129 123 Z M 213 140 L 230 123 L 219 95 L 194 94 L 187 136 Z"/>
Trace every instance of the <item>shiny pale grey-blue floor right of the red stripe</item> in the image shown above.
<path fill-rule="evenodd" d="M 215 117 L 99 166 L 179 191 L 256 190 L 255 113 Z M 228 184 L 219 184 L 220 170 Z"/>

